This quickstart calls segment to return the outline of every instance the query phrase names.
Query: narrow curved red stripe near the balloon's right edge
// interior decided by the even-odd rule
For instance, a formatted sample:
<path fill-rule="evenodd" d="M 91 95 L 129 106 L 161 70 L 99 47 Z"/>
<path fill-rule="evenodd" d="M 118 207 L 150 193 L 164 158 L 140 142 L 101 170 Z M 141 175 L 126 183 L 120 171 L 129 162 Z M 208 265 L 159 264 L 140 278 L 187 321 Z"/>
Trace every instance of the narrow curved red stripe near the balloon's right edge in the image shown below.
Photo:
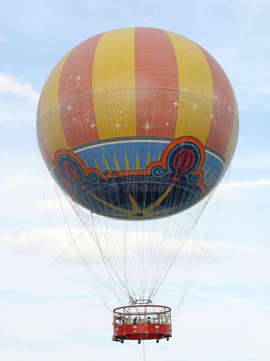
<path fill-rule="evenodd" d="M 210 66 L 214 88 L 213 114 L 206 145 L 224 155 L 233 130 L 233 93 L 229 79 L 219 63 L 206 50 L 200 46 L 199 48 Z"/>

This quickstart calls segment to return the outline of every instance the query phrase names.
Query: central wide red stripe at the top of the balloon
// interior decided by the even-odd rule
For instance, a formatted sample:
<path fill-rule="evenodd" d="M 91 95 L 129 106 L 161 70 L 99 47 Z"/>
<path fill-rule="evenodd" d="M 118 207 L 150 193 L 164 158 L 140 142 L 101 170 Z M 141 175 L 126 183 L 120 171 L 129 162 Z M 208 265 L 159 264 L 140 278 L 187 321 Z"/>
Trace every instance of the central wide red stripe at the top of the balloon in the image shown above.
<path fill-rule="evenodd" d="M 135 28 L 135 84 L 137 135 L 174 138 L 178 70 L 165 31 Z"/>

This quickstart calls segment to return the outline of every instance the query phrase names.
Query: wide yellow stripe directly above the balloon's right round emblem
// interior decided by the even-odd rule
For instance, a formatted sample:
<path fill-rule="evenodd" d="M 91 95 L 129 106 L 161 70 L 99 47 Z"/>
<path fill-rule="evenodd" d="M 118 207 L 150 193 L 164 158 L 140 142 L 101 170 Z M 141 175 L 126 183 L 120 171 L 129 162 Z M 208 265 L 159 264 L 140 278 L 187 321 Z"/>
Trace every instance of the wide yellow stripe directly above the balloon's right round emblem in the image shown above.
<path fill-rule="evenodd" d="M 179 97 L 175 138 L 194 136 L 206 143 L 213 112 L 213 80 L 201 49 L 184 36 L 166 31 L 175 49 Z"/>

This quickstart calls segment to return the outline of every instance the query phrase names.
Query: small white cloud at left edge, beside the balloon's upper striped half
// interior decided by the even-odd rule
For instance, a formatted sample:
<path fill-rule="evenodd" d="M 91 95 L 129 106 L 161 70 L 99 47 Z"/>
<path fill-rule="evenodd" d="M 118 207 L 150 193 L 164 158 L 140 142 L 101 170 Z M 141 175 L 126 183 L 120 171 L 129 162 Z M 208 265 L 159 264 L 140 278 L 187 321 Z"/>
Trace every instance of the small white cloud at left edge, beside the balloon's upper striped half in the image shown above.
<path fill-rule="evenodd" d="M 30 101 L 38 102 L 40 94 L 33 90 L 32 84 L 7 73 L 0 74 L 0 94 L 19 95 Z"/>

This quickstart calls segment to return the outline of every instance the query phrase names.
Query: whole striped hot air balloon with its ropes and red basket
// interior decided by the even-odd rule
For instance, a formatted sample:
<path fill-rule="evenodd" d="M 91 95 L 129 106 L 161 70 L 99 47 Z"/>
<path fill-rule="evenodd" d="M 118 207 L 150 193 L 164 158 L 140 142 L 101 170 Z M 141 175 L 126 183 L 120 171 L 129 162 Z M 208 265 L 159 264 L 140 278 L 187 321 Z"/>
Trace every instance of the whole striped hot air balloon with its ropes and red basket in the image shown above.
<path fill-rule="evenodd" d="M 188 212 L 192 229 L 229 167 L 238 126 L 233 88 L 220 65 L 170 31 L 104 32 L 73 48 L 49 75 L 37 110 L 41 155 L 85 227 L 89 219 L 104 222 L 91 237 L 109 277 L 135 300 L 114 310 L 114 340 L 171 336 L 170 308 L 150 304 L 185 240 L 177 221 L 174 228 L 166 219 Z M 120 244 L 102 233 L 108 227 Z M 147 243 L 155 251 L 142 260 Z M 129 252 L 140 255 L 134 267 Z M 151 277 L 149 264 L 157 265 Z M 141 324 L 133 323 L 135 314 Z"/>

